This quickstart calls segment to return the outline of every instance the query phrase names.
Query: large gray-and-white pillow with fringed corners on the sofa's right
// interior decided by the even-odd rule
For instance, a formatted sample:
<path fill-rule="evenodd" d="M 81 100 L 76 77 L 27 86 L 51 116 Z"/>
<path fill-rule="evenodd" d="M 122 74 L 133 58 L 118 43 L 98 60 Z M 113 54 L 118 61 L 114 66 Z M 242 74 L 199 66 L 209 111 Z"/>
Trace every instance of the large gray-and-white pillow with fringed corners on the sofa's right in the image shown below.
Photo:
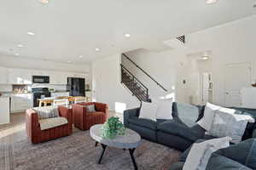
<path fill-rule="evenodd" d="M 241 142 L 247 122 L 254 122 L 252 116 L 235 114 L 236 110 L 221 108 L 215 111 L 211 129 L 207 132 L 214 137 L 230 136 L 232 143 Z"/>

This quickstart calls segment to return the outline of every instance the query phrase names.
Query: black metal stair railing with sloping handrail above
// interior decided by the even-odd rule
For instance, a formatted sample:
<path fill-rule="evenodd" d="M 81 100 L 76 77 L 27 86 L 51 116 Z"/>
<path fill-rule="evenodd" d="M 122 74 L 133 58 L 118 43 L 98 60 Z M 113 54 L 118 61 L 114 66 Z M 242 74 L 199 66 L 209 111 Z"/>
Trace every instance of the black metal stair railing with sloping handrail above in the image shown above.
<path fill-rule="evenodd" d="M 137 65 L 134 61 L 132 61 L 127 55 L 122 54 L 122 58 L 128 59 L 129 62 L 131 62 L 132 65 L 135 65 L 140 71 L 143 71 L 143 73 L 149 77 L 153 82 L 155 82 L 160 88 L 163 90 L 166 90 L 162 85 L 160 85 L 159 82 L 156 82 L 153 77 L 148 75 L 146 71 L 144 71 L 139 65 Z M 125 85 L 126 88 L 128 88 L 132 95 L 134 95 L 137 99 L 139 99 L 141 102 L 151 102 L 151 99 L 148 94 L 148 88 L 143 84 L 143 82 L 140 82 L 137 77 L 135 77 L 131 71 L 129 71 L 125 65 L 120 64 L 121 68 L 121 83 Z"/>

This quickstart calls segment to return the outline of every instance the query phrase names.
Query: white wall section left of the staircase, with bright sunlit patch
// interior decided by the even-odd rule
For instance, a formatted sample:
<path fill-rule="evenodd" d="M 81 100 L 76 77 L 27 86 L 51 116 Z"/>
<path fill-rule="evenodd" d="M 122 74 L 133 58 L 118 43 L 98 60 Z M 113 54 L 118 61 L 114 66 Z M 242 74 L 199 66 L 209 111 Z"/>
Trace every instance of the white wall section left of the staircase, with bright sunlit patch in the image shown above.
<path fill-rule="evenodd" d="M 120 83 L 120 56 L 114 54 L 92 63 L 93 99 L 107 103 L 110 111 L 122 112 L 140 102 Z"/>

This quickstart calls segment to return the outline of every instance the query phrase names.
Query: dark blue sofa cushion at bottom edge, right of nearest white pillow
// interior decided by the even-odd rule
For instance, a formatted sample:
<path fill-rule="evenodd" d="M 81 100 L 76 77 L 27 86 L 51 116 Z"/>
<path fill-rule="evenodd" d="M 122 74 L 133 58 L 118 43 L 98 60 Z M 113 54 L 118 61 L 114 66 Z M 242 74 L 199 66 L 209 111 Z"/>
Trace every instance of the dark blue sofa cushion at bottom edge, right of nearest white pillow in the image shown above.
<path fill-rule="evenodd" d="M 252 170 L 237 161 L 233 161 L 227 157 L 212 154 L 208 161 L 206 170 Z"/>

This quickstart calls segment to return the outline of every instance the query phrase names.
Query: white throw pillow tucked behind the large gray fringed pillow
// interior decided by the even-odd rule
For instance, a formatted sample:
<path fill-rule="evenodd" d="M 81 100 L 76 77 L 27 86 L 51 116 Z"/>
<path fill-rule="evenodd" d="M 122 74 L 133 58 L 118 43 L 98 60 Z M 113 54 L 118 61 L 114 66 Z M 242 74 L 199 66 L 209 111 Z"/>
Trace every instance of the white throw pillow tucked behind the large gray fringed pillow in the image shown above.
<path fill-rule="evenodd" d="M 204 111 L 204 116 L 201 118 L 199 122 L 197 122 L 197 124 L 206 129 L 207 131 L 209 131 L 212 127 L 215 111 L 217 111 L 220 108 L 222 107 L 207 103 Z"/>

